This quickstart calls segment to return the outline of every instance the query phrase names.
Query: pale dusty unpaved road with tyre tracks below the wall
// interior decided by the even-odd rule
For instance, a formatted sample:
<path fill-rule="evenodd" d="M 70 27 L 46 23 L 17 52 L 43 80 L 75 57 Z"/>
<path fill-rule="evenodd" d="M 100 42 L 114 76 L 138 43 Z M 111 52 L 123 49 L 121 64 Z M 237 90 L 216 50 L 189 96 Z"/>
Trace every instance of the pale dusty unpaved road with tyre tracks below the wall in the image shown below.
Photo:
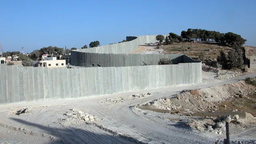
<path fill-rule="evenodd" d="M 256 74 L 249 75 L 249 77 L 255 76 Z M 214 144 L 216 140 L 224 139 L 224 136 L 202 133 L 154 116 L 177 118 L 177 116 L 170 114 L 152 112 L 152 116 L 144 115 L 133 106 L 174 95 L 184 89 L 198 89 L 234 83 L 245 79 L 245 77 L 241 76 L 225 81 L 209 79 L 204 84 L 126 92 L 75 100 L 47 100 L 1 105 L 0 138 L 34 144 Z M 153 94 L 116 104 L 104 103 L 104 100 L 108 98 L 147 92 Z M 15 108 L 24 107 L 28 107 L 30 112 L 20 115 L 9 113 Z M 67 116 L 64 114 L 72 108 L 79 108 L 84 112 L 96 115 L 100 119 L 95 122 L 97 126 L 86 124 L 83 120 L 65 121 Z M 180 116 L 180 118 L 184 118 L 184 116 Z M 231 140 L 248 141 L 255 139 L 255 136 L 256 129 L 252 128 L 242 134 L 231 136 Z"/>

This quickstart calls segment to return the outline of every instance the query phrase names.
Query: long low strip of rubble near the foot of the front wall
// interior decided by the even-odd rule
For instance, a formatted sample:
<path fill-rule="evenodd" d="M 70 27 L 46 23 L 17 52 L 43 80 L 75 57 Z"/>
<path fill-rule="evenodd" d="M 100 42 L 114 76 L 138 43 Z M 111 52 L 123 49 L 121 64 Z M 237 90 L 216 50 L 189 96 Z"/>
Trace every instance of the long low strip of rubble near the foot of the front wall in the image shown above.
<path fill-rule="evenodd" d="M 128 96 L 118 96 L 118 97 L 114 97 L 114 98 L 109 98 L 104 100 L 104 103 L 111 103 L 111 104 L 116 104 L 116 103 L 120 103 L 120 102 L 124 102 L 127 100 L 135 100 L 138 98 L 142 98 L 142 97 L 146 97 L 146 96 L 150 96 L 152 95 L 152 93 L 141 93 L 141 94 L 136 94 L 136 95 L 128 95 Z"/>

